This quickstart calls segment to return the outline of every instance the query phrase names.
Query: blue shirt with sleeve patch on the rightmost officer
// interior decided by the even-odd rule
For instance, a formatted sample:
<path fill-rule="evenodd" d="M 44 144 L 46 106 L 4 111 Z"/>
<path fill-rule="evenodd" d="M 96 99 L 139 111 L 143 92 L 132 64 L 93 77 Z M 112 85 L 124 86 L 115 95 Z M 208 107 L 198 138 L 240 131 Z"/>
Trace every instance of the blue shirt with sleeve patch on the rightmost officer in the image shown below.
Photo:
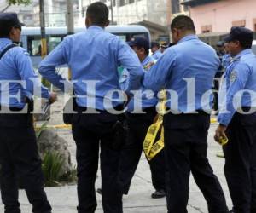
<path fill-rule="evenodd" d="M 241 90 L 256 93 L 256 56 L 252 49 L 245 49 L 232 60 L 224 74 L 219 90 L 218 122 L 227 126 L 238 108 L 256 107 L 255 95 Z M 233 105 L 233 101 L 237 104 Z"/>

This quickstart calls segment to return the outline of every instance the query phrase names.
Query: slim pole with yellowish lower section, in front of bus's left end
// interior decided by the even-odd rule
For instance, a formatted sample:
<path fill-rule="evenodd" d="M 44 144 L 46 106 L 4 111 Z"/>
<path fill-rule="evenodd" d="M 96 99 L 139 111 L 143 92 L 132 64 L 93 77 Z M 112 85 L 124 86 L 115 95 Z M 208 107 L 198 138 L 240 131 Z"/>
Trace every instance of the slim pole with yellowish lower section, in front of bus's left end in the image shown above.
<path fill-rule="evenodd" d="M 40 0 L 39 4 L 40 9 L 40 27 L 41 27 L 41 57 L 47 55 L 47 42 L 46 42 L 46 34 L 45 34 L 45 20 L 44 20 L 44 0 Z"/>

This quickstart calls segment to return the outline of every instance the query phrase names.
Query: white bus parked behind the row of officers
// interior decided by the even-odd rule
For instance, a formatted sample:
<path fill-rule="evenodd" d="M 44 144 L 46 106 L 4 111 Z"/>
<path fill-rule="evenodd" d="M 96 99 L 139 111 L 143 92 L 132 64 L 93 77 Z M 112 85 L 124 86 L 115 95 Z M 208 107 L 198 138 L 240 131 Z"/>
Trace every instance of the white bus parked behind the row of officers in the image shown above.
<path fill-rule="evenodd" d="M 74 32 L 85 31 L 85 27 L 75 27 Z M 144 26 L 108 26 L 106 30 L 119 36 L 123 41 L 130 41 L 132 37 L 146 37 L 150 42 L 150 33 Z M 45 28 L 48 52 L 54 49 L 64 37 L 67 36 L 67 27 Z M 33 66 L 37 67 L 41 61 L 41 32 L 40 27 L 23 27 L 21 32 L 21 45 L 27 49 L 32 58 Z"/>

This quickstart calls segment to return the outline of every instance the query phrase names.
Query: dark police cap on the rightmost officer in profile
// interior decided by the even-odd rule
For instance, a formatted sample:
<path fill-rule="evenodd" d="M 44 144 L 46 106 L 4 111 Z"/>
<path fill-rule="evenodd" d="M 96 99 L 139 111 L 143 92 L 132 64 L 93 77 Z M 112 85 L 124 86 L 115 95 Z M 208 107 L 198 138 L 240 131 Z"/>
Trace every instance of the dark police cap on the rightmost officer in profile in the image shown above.
<path fill-rule="evenodd" d="M 245 27 L 233 26 L 230 34 L 224 38 L 225 42 L 239 41 L 241 43 L 253 42 L 253 32 Z"/>

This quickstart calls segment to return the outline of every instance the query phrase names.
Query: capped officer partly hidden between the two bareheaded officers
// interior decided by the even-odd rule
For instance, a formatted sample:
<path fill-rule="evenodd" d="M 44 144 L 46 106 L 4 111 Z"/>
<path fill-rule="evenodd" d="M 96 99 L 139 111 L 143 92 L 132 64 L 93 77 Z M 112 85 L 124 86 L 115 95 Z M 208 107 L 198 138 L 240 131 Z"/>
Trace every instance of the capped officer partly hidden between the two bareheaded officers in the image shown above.
<path fill-rule="evenodd" d="M 149 68 L 154 64 L 154 59 L 149 55 L 149 42 L 144 37 L 136 37 L 129 42 L 131 48 L 137 54 L 145 72 L 148 72 Z M 125 75 L 125 72 L 123 73 Z M 124 78 L 123 75 L 123 78 Z M 121 86 L 129 82 L 129 75 L 126 75 L 126 79 L 122 79 Z M 141 88 L 143 93 L 145 89 Z M 155 106 L 158 102 L 156 96 L 135 97 L 131 99 L 127 106 L 127 123 L 128 123 L 128 139 L 123 147 L 120 163 L 120 181 L 124 184 L 124 193 L 127 194 L 131 185 L 131 179 L 137 170 L 137 165 L 143 152 L 143 141 L 148 131 L 148 127 L 154 123 L 154 118 L 157 115 Z M 139 106 L 141 107 L 137 107 Z M 143 112 L 141 112 L 143 110 Z M 155 188 L 155 192 L 152 193 L 153 199 L 159 199 L 166 196 L 166 184 L 165 184 L 165 157 L 164 153 L 160 152 L 151 161 L 148 161 L 150 165 L 152 183 Z"/>

